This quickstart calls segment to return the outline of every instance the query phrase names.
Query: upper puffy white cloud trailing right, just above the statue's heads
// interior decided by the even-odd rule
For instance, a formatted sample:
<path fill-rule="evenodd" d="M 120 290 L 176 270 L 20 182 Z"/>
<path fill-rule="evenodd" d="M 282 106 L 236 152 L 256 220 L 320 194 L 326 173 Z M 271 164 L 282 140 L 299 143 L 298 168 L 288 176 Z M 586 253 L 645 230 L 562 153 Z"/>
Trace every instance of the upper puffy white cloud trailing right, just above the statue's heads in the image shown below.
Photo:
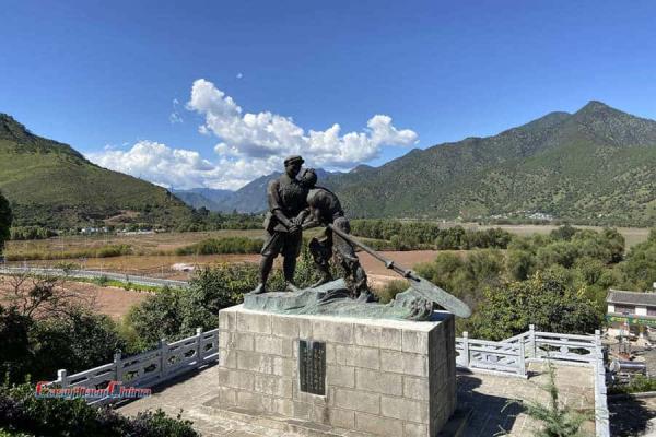
<path fill-rule="evenodd" d="M 384 145 L 408 146 L 418 140 L 412 130 L 394 127 L 386 115 L 372 117 L 362 132 L 342 134 L 338 123 L 324 131 L 306 132 L 291 117 L 244 111 L 231 96 L 203 79 L 194 82 L 187 109 L 204 117 L 201 132 L 213 132 L 232 156 L 249 160 L 300 154 L 309 165 L 349 168 L 378 156 Z"/>

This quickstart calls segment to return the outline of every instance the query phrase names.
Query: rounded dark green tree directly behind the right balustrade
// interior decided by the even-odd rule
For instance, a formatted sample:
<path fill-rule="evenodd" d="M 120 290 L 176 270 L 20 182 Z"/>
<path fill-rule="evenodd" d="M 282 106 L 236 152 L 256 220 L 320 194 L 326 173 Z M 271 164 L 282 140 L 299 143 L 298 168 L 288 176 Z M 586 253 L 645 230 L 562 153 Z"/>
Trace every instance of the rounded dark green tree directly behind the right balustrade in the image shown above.
<path fill-rule="evenodd" d="M 598 329 L 604 308 L 575 290 L 561 271 L 538 272 L 527 281 L 488 287 L 471 321 L 472 336 L 502 340 L 528 330 L 589 333 Z"/>

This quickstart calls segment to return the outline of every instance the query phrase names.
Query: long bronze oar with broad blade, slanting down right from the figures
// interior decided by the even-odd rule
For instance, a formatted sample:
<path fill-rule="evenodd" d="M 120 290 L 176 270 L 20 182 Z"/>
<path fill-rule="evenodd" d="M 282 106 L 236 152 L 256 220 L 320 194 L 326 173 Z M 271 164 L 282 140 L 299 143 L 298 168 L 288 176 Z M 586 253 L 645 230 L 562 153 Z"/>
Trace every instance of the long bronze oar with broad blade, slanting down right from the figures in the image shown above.
<path fill-rule="evenodd" d="M 395 264 L 393 260 L 388 260 L 387 258 L 383 257 L 380 253 L 378 253 L 364 243 L 356 240 L 352 235 L 344 233 L 343 231 L 339 229 L 336 226 L 332 226 L 331 224 L 328 224 L 328 227 L 347 241 L 360 247 L 362 250 L 370 253 L 378 261 L 385 263 L 386 268 L 394 270 L 396 273 L 406 277 L 410 282 L 410 286 L 414 288 L 414 291 L 417 291 L 417 293 L 423 298 L 436 303 L 447 311 L 450 311 L 458 317 L 468 318 L 469 316 L 471 316 L 471 309 L 467 306 L 467 304 L 465 304 L 462 300 L 458 299 L 454 295 L 448 294 L 444 290 L 440 288 L 437 285 L 421 277 L 419 274 L 417 274 L 417 272 L 410 269 L 403 269 L 402 267 Z"/>

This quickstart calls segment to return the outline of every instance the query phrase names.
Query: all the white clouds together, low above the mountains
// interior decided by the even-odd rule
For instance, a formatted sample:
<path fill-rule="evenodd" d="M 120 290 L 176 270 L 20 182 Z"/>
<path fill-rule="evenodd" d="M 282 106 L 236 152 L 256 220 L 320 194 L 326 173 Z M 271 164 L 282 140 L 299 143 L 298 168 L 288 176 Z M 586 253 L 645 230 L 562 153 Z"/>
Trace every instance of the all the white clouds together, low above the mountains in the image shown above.
<path fill-rule="evenodd" d="M 172 123 L 181 122 L 178 104 L 173 101 Z M 415 132 L 397 129 L 386 115 L 370 118 L 361 132 L 342 133 L 338 123 L 323 131 L 306 131 L 291 117 L 245 111 L 231 96 L 202 79 L 194 82 L 186 107 L 204 117 L 204 123 L 198 128 L 201 134 L 220 139 L 214 160 L 153 141 L 139 141 L 126 151 L 106 149 L 87 157 L 103 167 L 164 187 L 237 189 L 259 176 L 281 170 L 288 155 L 302 155 L 307 166 L 342 169 L 378 156 L 385 145 L 409 146 L 418 141 Z"/>

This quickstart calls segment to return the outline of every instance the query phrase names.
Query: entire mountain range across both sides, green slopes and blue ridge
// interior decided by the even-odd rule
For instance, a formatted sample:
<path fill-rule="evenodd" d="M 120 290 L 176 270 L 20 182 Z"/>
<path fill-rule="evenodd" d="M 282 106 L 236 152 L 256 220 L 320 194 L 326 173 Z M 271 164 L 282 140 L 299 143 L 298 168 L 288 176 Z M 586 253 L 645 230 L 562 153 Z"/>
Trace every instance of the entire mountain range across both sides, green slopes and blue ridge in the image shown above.
<path fill-rule="evenodd" d="M 601 102 L 496 135 L 414 149 L 379 167 L 319 170 L 352 217 L 487 220 L 536 214 L 578 224 L 656 223 L 656 121 Z M 266 210 L 274 173 L 236 191 L 163 188 L 103 169 L 0 116 L 0 189 L 21 223 L 174 223 L 194 208 Z M 114 218 L 113 218 L 114 217 Z"/>

